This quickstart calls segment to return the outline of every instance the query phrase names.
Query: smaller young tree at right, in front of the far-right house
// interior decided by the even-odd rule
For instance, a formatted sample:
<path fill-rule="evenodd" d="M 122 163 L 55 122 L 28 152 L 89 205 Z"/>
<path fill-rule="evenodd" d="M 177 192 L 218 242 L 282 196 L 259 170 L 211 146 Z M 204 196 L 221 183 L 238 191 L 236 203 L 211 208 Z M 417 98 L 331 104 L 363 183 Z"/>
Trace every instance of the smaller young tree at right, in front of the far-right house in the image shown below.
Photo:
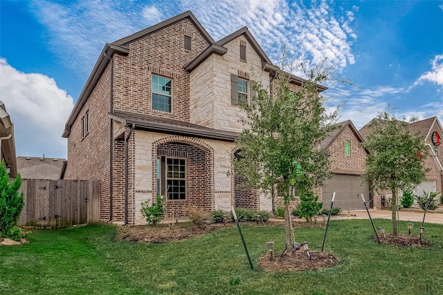
<path fill-rule="evenodd" d="M 363 147 L 370 155 L 363 178 L 377 190 L 391 191 L 392 234 L 397 235 L 397 189 L 413 189 L 424 180 L 426 145 L 422 137 L 410 133 L 408 122 L 397 120 L 388 111 L 379 113 L 368 127 Z"/>

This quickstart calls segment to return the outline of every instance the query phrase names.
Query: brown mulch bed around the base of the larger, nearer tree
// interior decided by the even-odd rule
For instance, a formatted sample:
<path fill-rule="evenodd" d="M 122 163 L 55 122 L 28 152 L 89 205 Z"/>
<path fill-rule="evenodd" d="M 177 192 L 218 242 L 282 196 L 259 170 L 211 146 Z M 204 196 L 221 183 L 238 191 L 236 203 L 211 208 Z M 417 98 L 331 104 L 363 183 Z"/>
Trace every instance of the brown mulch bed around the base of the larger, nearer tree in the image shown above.
<path fill-rule="evenodd" d="M 266 272 L 316 270 L 340 264 L 338 258 L 328 252 L 309 251 L 309 254 L 311 254 L 311 259 L 308 258 L 305 251 L 298 250 L 293 256 L 278 255 L 273 258 L 273 261 L 267 255 L 260 259 L 259 264 Z"/>

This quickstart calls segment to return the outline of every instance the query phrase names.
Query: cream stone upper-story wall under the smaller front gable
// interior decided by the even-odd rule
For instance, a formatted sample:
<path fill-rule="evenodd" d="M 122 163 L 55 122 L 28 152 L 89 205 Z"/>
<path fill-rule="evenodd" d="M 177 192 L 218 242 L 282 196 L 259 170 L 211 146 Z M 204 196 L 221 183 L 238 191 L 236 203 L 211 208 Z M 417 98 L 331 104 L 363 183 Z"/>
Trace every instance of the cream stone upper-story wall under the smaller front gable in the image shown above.
<path fill-rule="evenodd" d="M 241 40 L 246 41 L 246 62 L 240 61 Z M 260 57 L 243 35 L 224 47 L 227 48 L 225 55 L 211 55 L 190 73 L 190 122 L 240 132 L 243 125 L 239 119 L 244 112 L 231 104 L 230 75 L 246 73 L 249 82 L 261 81 L 266 88 L 269 73 L 262 70 Z"/>

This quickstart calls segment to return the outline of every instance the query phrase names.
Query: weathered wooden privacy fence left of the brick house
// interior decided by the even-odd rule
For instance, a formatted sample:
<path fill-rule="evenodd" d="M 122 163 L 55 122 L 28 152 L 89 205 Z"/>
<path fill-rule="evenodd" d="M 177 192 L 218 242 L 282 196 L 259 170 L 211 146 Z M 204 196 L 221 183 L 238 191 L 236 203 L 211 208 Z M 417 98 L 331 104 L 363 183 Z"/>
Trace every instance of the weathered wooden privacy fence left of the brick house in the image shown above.
<path fill-rule="evenodd" d="M 100 180 L 24 179 L 19 225 L 69 227 L 100 221 Z"/>

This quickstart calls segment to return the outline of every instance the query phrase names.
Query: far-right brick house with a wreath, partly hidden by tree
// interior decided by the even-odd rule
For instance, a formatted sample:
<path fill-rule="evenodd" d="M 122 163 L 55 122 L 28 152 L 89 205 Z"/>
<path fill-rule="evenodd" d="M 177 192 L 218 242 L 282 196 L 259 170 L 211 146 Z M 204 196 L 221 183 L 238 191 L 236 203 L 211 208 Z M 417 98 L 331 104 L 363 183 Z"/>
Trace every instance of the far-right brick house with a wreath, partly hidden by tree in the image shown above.
<path fill-rule="evenodd" d="M 378 120 L 378 119 L 373 119 Z M 371 122 L 373 121 L 371 120 Z M 366 124 L 359 130 L 363 139 L 370 133 L 370 124 Z M 426 179 L 424 182 L 418 185 L 414 190 L 415 195 L 421 196 L 423 191 L 442 192 L 443 187 L 443 153 L 442 146 L 442 125 L 437 117 L 431 117 L 425 120 L 410 123 L 409 129 L 411 133 L 418 133 L 422 136 L 424 143 L 428 146 L 429 157 L 424 161 L 424 167 L 428 169 L 426 173 Z M 390 191 L 383 191 L 379 195 L 374 196 L 374 207 L 381 207 L 381 197 L 392 198 Z M 401 192 L 399 192 L 399 198 L 401 198 Z"/>

